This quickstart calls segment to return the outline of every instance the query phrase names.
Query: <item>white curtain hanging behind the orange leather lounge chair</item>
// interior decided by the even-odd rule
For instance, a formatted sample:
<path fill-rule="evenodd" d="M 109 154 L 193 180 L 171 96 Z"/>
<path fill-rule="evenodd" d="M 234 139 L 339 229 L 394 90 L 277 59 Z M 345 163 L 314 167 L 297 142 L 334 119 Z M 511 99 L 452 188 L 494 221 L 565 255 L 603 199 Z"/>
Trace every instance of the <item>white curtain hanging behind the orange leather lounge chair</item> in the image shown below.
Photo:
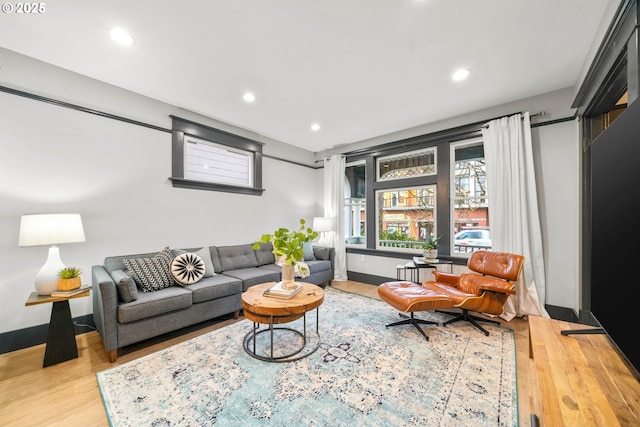
<path fill-rule="evenodd" d="M 482 137 L 491 247 L 525 257 L 516 294 L 509 297 L 501 317 L 549 317 L 544 309 L 545 267 L 529 113 L 492 120 L 483 127 Z"/>

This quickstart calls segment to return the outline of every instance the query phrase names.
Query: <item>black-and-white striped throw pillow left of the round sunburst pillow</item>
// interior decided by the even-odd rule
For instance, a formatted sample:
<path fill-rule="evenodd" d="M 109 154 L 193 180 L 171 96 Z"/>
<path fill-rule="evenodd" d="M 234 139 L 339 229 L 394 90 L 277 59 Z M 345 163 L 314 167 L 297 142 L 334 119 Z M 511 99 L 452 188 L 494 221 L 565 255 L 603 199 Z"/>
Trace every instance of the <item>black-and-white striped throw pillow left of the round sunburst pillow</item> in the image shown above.
<path fill-rule="evenodd" d="M 142 292 L 153 292 L 175 283 L 171 275 L 172 260 L 173 254 L 167 246 L 151 258 L 125 258 L 122 262 Z"/>

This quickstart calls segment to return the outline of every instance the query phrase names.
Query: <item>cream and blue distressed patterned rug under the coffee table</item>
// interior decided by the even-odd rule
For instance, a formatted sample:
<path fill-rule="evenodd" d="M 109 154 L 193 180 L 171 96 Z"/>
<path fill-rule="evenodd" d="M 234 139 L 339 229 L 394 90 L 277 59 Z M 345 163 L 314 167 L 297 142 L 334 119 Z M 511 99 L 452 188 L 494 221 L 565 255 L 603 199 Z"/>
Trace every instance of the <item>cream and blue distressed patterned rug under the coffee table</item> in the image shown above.
<path fill-rule="evenodd" d="M 442 322 L 448 315 L 419 313 Z M 466 322 L 385 328 L 398 312 L 327 288 L 309 357 L 249 356 L 241 320 L 97 374 L 112 426 L 516 426 L 513 331 Z M 287 324 L 302 330 L 302 319 Z M 315 311 L 307 331 L 315 332 Z M 259 335 L 258 349 L 264 343 Z M 281 331 L 281 344 L 297 335 Z M 291 342 L 288 342 L 291 341 Z M 313 343 L 312 343 L 313 344 Z M 285 350 L 286 351 L 286 350 Z"/>

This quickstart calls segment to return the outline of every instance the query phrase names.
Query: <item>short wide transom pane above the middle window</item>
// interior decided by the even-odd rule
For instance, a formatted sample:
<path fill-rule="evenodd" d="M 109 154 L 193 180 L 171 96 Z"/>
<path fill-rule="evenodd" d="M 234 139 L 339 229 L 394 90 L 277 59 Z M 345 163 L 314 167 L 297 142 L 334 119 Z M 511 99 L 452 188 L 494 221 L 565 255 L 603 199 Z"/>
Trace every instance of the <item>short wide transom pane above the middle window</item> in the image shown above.
<path fill-rule="evenodd" d="M 378 159 L 378 181 L 415 178 L 436 173 L 435 148 Z"/>

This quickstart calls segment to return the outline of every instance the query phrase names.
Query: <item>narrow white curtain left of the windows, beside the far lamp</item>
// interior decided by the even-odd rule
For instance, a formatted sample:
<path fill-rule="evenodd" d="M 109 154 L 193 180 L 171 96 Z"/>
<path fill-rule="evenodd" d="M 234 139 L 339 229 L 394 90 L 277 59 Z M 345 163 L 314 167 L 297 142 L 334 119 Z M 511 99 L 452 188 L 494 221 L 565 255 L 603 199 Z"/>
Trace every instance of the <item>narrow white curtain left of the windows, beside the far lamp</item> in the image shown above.
<path fill-rule="evenodd" d="M 347 249 L 344 235 L 344 168 L 345 159 L 334 154 L 324 159 L 324 216 L 332 219 L 328 246 L 336 249 L 333 280 L 347 280 Z"/>

